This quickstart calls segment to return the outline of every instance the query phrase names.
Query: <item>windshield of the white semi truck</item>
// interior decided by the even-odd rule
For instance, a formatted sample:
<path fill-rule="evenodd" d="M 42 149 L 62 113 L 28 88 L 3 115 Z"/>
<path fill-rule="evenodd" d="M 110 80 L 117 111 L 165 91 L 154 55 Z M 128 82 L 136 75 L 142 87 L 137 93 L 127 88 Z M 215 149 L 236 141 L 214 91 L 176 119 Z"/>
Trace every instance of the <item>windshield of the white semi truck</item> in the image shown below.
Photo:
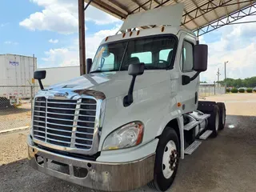
<path fill-rule="evenodd" d="M 98 48 L 90 72 L 128 70 L 130 64 L 145 63 L 145 70 L 166 69 L 172 63 L 176 38 L 155 36 L 111 42 Z"/>

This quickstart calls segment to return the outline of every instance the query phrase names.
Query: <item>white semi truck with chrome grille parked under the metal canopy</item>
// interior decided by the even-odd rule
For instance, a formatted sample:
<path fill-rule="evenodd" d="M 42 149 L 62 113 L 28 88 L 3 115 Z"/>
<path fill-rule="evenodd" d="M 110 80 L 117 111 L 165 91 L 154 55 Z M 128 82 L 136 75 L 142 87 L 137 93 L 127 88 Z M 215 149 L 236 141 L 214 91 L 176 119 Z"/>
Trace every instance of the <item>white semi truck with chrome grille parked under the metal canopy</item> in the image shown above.
<path fill-rule="evenodd" d="M 68 82 L 43 89 L 37 71 L 30 166 L 94 190 L 168 190 L 180 159 L 226 121 L 223 103 L 198 101 L 207 46 L 181 18 L 180 4 L 130 15 Z"/>

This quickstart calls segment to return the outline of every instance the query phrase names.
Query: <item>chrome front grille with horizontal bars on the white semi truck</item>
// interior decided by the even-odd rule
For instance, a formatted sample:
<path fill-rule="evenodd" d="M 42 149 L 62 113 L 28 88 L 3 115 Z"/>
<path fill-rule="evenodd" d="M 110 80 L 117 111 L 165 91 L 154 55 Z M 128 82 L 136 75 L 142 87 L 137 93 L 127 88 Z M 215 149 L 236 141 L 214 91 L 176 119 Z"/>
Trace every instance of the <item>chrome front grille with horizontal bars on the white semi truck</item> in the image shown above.
<path fill-rule="evenodd" d="M 34 138 L 57 146 L 90 150 L 94 138 L 97 102 L 35 98 Z"/>

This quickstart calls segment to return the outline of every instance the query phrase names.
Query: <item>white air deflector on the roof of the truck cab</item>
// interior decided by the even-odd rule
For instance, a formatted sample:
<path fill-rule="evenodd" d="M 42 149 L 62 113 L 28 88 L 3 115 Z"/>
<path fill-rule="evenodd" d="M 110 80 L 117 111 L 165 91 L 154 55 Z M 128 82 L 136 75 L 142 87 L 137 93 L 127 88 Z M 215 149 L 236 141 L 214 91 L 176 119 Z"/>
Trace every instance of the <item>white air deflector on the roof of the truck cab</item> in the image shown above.
<path fill-rule="evenodd" d="M 126 31 L 141 26 L 180 26 L 182 22 L 184 4 L 174 6 L 162 6 L 154 10 L 146 10 L 136 14 L 130 14 L 123 22 L 120 31 Z"/>

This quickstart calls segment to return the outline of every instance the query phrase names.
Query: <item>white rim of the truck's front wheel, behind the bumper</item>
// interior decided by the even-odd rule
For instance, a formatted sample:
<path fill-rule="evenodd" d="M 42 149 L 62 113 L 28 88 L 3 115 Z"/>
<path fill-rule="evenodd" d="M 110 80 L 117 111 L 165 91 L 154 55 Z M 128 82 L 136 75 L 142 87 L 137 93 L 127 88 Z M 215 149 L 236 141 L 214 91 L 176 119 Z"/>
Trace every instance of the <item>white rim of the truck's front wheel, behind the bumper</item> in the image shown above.
<path fill-rule="evenodd" d="M 174 141 L 166 144 L 162 157 L 162 174 L 165 178 L 170 178 L 174 174 L 178 162 L 178 152 Z"/>

